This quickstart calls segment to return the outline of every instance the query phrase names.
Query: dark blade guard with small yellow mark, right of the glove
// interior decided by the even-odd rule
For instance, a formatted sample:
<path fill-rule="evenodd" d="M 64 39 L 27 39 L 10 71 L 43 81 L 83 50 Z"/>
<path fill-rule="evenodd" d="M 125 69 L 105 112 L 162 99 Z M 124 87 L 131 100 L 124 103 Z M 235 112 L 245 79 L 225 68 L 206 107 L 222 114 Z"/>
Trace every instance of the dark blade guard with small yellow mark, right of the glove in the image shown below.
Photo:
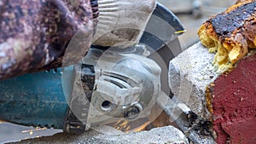
<path fill-rule="evenodd" d="M 161 3 L 157 3 L 140 43 L 158 51 L 167 43 L 177 39 L 183 32 L 185 30 L 177 16 Z"/>

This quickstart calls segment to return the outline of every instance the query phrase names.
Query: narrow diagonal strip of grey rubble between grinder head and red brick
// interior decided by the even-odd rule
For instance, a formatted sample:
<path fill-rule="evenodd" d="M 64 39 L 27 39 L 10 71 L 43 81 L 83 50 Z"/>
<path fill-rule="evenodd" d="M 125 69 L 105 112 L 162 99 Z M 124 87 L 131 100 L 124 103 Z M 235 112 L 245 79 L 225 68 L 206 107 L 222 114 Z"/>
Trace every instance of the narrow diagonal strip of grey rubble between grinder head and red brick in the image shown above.
<path fill-rule="evenodd" d="M 162 94 L 157 99 L 157 105 L 163 112 L 166 112 L 166 115 L 169 116 L 169 121 L 175 123 L 183 131 L 183 134 L 189 138 L 190 142 L 195 144 L 216 144 L 212 135 L 207 134 L 209 130 L 205 127 L 206 125 L 203 126 L 200 123 L 204 119 L 196 118 L 193 119 L 195 122 L 191 121 L 189 112 L 186 112 L 190 111 L 189 108 L 179 106 L 183 105 L 183 103 L 177 104 L 177 101 L 173 101 L 173 98 L 170 99 L 169 96 Z"/>

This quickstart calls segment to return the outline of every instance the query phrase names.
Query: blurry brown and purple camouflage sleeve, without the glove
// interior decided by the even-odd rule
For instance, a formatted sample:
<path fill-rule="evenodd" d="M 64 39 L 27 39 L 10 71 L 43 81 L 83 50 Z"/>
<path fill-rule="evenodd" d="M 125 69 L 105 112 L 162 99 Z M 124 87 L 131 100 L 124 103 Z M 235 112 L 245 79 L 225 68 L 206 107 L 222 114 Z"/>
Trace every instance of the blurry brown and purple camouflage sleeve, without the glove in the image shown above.
<path fill-rule="evenodd" d="M 93 36 L 92 2 L 1 0 L 0 79 L 81 60 Z"/>

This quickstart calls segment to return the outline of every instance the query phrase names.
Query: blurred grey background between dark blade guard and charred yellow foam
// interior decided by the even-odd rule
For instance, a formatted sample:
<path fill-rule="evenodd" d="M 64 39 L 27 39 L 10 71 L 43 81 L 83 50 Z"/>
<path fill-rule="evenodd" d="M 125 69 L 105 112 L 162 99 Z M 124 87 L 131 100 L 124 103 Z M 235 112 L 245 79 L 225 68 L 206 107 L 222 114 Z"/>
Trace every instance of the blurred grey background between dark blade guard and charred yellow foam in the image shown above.
<path fill-rule="evenodd" d="M 236 3 L 236 0 L 158 0 L 158 2 L 171 9 L 187 30 L 179 37 L 186 49 L 199 41 L 197 31 L 204 21 L 212 14 L 224 11 Z"/>

